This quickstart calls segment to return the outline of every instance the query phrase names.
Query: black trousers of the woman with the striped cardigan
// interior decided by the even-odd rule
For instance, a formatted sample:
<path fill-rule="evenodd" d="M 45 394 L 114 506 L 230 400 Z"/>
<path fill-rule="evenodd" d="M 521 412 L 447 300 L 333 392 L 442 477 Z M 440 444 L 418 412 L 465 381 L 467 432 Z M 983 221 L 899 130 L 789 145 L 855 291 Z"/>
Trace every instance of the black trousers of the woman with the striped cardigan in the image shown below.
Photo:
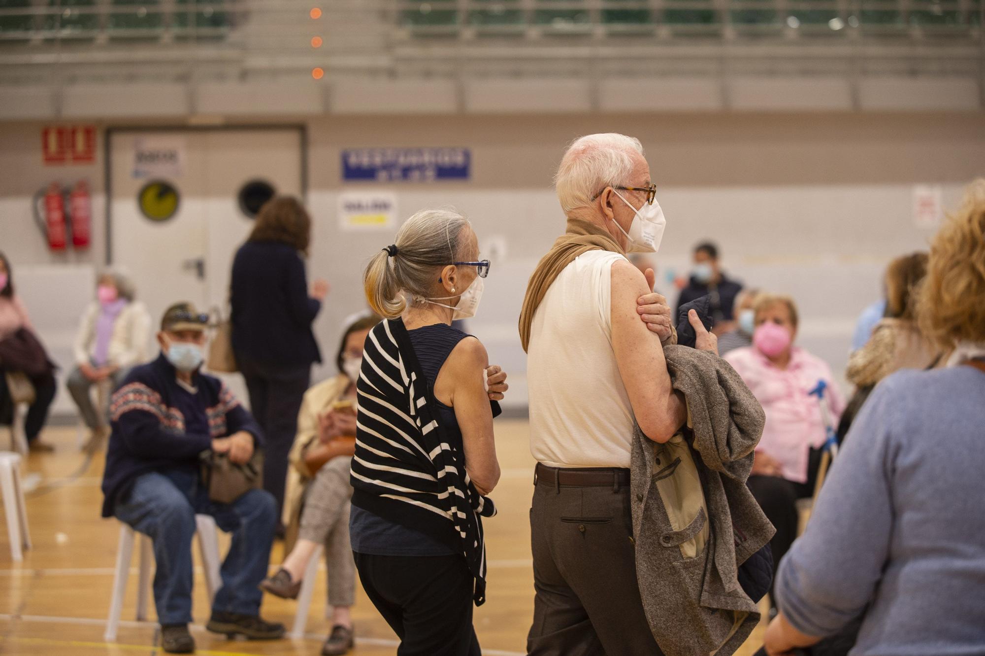
<path fill-rule="evenodd" d="M 366 596 L 400 637 L 397 656 L 482 656 L 465 558 L 353 556 Z"/>

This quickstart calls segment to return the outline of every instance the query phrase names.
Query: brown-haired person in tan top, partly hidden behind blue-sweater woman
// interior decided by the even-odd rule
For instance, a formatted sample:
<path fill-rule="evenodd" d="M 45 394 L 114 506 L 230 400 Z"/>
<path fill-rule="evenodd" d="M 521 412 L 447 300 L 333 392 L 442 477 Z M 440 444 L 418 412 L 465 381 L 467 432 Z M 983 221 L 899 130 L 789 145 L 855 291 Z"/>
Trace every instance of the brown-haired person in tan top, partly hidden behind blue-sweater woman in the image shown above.
<path fill-rule="evenodd" d="M 897 369 L 944 363 L 939 347 L 923 336 L 916 322 L 914 292 L 926 275 L 927 253 L 897 257 L 886 268 L 886 316 L 866 345 L 848 359 L 845 376 L 856 389 L 838 423 L 839 441 L 880 380 Z"/>

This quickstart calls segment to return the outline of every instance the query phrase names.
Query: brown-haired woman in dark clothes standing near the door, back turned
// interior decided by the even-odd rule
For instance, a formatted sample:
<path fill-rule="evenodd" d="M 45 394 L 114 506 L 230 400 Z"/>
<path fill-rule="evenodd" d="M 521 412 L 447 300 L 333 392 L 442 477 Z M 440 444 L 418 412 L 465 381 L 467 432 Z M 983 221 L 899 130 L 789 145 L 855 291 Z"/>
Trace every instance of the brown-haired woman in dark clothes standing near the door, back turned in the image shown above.
<path fill-rule="evenodd" d="M 316 280 L 308 290 L 303 257 L 311 219 L 296 198 L 278 196 L 256 217 L 256 226 L 232 262 L 232 350 L 246 379 L 250 410 L 266 435 L 263 487 L 284 504 L 288 454 L 297 413 L 321 361 L 311 323 L 328 294 Z"/>

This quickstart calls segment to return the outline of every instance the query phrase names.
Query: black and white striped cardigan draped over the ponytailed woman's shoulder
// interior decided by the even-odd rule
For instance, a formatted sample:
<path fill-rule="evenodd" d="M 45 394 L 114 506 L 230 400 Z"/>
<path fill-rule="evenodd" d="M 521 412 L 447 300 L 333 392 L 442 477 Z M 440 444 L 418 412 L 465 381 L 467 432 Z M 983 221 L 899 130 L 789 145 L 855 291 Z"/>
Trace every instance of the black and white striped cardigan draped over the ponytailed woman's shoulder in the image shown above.
<path fill-rule="evenodd" d="M 384 320 L 366 338 L 357 382 L 359 421 L 350 481 L 353 505 L 427 532 L 461 550 L 486 601 L 482 517 L 495 514 L 465 471 L 460 443 L 449 443 L 410 335 Z M 498 404 L 493 413 L 498 414 Z"/>

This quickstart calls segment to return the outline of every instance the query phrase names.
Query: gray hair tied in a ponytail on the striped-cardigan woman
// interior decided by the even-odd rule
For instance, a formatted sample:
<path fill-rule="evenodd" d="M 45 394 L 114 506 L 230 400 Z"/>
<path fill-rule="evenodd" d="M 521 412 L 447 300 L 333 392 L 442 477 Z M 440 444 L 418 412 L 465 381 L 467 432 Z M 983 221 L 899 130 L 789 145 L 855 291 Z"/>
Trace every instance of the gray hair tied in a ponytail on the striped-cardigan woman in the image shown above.
<path fill-rule="evenodd" d="M 394 319 L 407 308 L 406 295 L 418 301 L 437 283 L 435 270 L 451 264 L 461 248 L 469 220 L 455 210 L 422 210 L 397 231 L 396 254 L 377 252 L 362 275 L 369 307 Z"/>

